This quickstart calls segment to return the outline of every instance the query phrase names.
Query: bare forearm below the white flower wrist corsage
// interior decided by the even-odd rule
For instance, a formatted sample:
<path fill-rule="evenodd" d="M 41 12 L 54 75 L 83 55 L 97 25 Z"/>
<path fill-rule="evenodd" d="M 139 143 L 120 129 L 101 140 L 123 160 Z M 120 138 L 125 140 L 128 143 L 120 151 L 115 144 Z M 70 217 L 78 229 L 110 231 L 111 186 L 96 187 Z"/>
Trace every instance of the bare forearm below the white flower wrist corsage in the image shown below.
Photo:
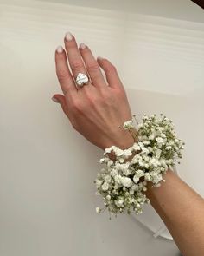
<path fill-rule="evenodd" d="M 169 170 L 161 187 L 145 192 L 184 256 L 204 255 L 204 200 Z"/>

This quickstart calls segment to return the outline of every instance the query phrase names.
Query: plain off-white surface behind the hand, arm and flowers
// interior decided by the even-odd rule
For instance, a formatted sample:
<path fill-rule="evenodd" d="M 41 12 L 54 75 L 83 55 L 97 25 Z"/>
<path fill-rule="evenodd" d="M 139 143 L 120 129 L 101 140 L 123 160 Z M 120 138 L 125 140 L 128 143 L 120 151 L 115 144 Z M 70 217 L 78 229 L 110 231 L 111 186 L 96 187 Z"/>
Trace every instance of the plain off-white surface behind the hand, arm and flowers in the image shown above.
<path fill-rule="evenodd" d="M 0 0 L 0 255 L 179 255 L 136 219 L 95 213 L 103 152 L 51 101 L 54 49 L 70 30 L 117 66 L 132 113 L 172 118 L 187 142 L 178 172 L 203 195 L 203 11 L 184 0 L 74 3 Z"/>

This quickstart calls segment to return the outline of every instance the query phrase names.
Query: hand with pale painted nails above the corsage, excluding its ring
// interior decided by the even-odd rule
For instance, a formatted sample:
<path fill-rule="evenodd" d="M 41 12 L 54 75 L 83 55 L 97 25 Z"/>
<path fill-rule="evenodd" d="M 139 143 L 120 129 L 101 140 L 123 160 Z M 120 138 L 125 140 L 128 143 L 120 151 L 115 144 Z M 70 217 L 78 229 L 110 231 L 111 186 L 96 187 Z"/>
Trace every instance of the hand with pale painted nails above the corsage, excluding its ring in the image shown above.
<path fill-rule="evenodd" d="M 64 95 L 54 95 L 54 102 L 61 103 L 73 128 L 97 147 L 131 147 L 134 139 L 122 128 L 124 121 L 132 118 L 131 108 L 117 69 L 107 59 L 96 60 L 84 43 L 78 49 L 70 33 L 64 43 L 66 51 L 58 47 L 55 52 L 56 74 Z M 107 82 L 100 68 L 104 69 Z M 79 73 L 90 79 L 83 87 L 75 85 Z"/>

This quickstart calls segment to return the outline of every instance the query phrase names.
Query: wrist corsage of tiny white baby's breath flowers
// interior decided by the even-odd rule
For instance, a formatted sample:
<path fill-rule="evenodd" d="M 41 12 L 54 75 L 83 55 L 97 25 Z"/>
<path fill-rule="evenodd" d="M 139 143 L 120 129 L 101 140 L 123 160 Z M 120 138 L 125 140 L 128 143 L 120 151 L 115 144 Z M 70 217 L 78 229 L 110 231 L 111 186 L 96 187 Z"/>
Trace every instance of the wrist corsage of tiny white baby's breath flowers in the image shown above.
<path fill-rule="evenodd" d="M 131 121 L 124 122 L 125 129 L 133 128 Z M 182 158 L 184 143 L 175 135 L 171 120 L 161 114 L 143 115 L 138 124 L 137 142 L 132 147 L 120 149 L 116 146 L 105 148 L 105 157 L 99 162 L 105 167 L 97 174 L 95 182 L 98 193 L 102 195 L 105 207 L 111 214 L 143 213 L 144 203 L 150 200 L 143 194 L 147 190 L 147 181 L 152 187 L 160 187 L 163 174 L 175 166 L 175 161 Z M 114 152 L 116 160 L 112 161 L 107 153 Z M 131 160 L 129 160 L 131 156 Z M 96 212 L 103 209 L 97 207 Z"/>

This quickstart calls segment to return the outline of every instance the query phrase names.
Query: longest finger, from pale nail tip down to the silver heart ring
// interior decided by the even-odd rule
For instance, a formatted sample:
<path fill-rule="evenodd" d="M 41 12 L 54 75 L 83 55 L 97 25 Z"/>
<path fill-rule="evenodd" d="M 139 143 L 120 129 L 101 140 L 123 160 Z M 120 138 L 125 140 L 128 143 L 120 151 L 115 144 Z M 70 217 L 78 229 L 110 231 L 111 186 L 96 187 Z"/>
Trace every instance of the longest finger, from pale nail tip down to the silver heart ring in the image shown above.
<path fill-rule="evenodd" d="M 74 36 L 69 32 L 67 32 L 65 36 L 65 48 L 67 50 L 68 62 L 73 73 L 74 81 L 76 81 L 77 75 L 79 73 L 82 73 L 88 76 L 84 62 L 82 61 L 82 58 L 80 55 L 80 51 L 77 47 L 76 40 Z"/>

